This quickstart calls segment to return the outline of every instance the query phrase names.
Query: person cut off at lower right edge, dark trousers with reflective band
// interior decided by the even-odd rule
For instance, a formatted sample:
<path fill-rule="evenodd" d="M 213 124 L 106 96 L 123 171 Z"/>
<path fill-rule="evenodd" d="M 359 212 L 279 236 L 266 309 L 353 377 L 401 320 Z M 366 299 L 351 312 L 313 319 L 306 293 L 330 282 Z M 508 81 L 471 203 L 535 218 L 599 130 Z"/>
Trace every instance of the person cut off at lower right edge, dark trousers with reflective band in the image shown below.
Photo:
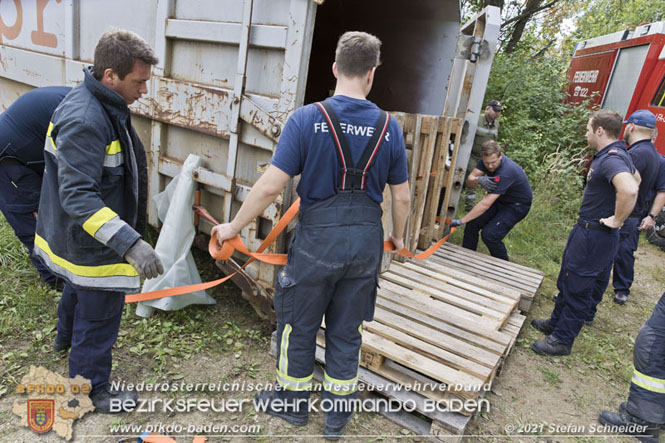
<path fill-rule="evenodd" d="M 618 414 L 603 411 L 598 420 L 623 425 L 641 441 L 658 443 L 659 427 L 665 424 L 665 294 L 637 334 L 633 366 L 628 401 L 619 406 Z"/>

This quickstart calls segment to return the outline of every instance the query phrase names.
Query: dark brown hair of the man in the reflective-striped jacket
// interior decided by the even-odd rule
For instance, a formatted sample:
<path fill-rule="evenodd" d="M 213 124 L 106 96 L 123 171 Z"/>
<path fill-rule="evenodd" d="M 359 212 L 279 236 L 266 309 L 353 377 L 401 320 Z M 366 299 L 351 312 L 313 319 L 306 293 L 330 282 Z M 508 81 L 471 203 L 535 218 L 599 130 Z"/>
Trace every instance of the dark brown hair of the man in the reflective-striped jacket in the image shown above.
<path fill-rule="evenodd" d="M 101 80 L 104 71 L 111 68 L 123 80 L 134 69 L 134 63 L 141 61 L 156 65 L 159 59 L 150 45 L 137 34 L 124 29 L 105 32 L 97 42 L 92 72 Z"/>

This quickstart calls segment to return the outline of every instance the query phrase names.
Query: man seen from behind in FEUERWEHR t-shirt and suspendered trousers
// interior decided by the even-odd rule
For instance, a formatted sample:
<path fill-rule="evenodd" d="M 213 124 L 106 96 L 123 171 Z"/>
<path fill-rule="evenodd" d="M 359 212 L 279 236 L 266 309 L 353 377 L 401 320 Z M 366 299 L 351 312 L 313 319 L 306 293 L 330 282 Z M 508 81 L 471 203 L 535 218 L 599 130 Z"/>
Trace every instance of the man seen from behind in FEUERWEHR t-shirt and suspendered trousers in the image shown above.
<path fill-rule="evenodd" d="M 344 432 L 357 398 L 362 323 L 374 315 L 383 252 L 380 203 L 386 183 L 392 195 L 390 238 L 398 249 L 409 212 L 402 131 L 366 99 L 380 44 L 364 32 L 340 37 L 335 95 L 294 112 L 271 166 L 236 217 L 212 231 L 220 243 L 234 237 L 300 174 L 300 216 L 275 284 L 277 389 L 261 392 L 255 405 L 294 425 L 307 423 L 316 334 L 325 316 L 321 410 L 330 439 Z"/>

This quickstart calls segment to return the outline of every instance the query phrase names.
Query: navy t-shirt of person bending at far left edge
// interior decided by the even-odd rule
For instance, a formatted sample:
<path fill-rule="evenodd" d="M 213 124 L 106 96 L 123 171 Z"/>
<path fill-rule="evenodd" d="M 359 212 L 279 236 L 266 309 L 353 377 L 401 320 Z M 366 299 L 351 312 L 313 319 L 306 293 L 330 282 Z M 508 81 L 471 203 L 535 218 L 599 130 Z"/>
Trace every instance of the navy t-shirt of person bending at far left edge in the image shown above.
<path fill-rule="evenodd" d="M 44 140 L 51 115 L 72 88 L 47 86 L 26 92 L 0 115 L 0 153 L 44 172 Z"/>

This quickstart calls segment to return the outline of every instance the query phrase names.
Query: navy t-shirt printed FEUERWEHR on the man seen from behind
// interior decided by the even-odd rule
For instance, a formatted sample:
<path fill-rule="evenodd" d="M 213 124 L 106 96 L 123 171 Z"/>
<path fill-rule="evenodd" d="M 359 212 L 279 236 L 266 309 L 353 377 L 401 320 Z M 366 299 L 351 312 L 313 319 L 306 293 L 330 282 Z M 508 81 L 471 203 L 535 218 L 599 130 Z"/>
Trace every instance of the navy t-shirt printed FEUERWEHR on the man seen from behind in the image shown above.
<path fill-rule="evenodd" d="M 378 123 L 380 110 L 369 100 L 343 95 L 335 95 L 328 101 L 356 166 Z M 301 175 L 297 192 L 303 207 L 332 197 L 340 188 L 341 162 L 329 130 L 315 104 L 297 109 L 284 126 L 270 160 L 291 177 Z M 381 148 L 367 173 L 365 190 L 372 200 L 381 203 L 386 183 L 399 185 L 408 179 L 404 137 L 391 117 Z"/>

